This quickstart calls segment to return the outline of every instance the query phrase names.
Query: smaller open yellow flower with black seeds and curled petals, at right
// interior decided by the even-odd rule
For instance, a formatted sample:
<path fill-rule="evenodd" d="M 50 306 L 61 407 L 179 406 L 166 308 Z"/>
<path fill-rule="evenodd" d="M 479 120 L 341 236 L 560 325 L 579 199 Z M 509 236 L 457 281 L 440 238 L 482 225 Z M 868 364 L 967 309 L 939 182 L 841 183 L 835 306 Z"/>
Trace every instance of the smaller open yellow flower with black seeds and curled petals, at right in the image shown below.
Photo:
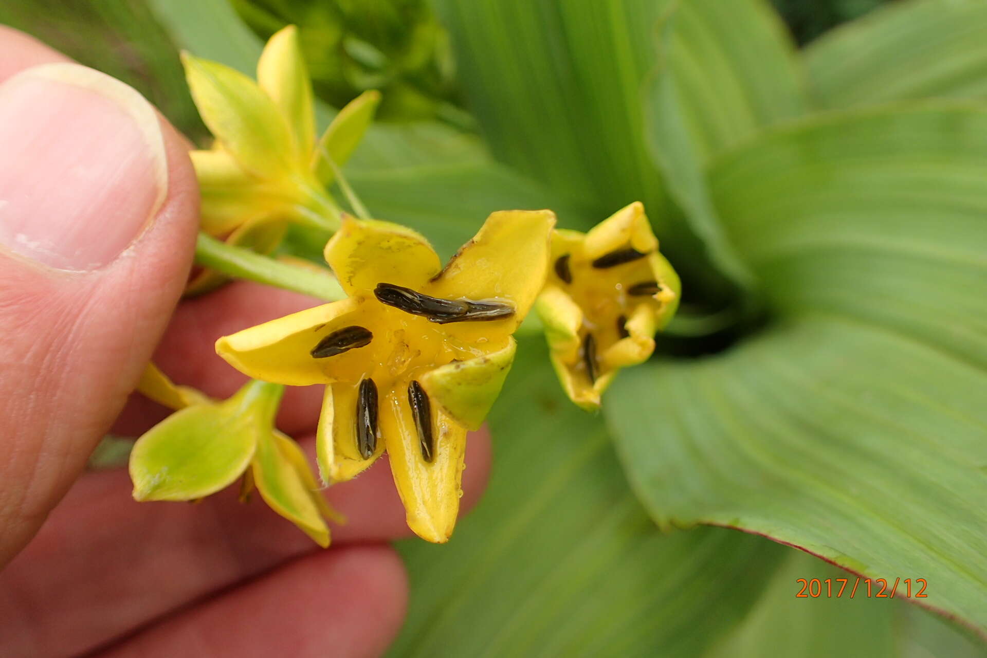
<path fill-rule="evenodd" d="M 596 408 L 620 368 L 654 351 L 681 284 L 638 201 L 588 233 L 556 231 L 552 263 L 537 304 L 552 363 L 569 399 Z"/>

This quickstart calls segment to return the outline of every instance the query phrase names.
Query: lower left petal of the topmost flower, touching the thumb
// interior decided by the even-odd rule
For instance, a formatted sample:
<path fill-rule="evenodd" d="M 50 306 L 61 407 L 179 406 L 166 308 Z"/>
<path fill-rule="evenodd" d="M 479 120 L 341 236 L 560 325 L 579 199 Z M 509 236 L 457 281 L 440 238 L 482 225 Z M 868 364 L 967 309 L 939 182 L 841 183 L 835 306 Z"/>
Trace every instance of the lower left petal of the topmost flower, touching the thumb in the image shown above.
<path fill-rule="evenodd" d="M 280 185 L 245 172 L 226 151 L 192 151 L 198 179 L 202 231 L 221 237 L 258 219 L 287 214 L 293 202 Z"/>

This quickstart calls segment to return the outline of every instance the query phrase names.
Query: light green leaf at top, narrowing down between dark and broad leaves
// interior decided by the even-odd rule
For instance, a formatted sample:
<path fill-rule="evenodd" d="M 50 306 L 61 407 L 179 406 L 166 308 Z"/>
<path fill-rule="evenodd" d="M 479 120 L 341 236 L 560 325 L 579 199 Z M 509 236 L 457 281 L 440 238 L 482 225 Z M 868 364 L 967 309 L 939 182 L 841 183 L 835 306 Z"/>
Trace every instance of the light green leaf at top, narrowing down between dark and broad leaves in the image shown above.
<path fill-rule="evenodd" d="M 763 0 L 680 0 L 657 36 L 659 65 L 645 86 L 650 152 L 715 261 L 749 284 L 724 242 L 704 170 L 730 147 L 805 112 L 795 46 Z"/>

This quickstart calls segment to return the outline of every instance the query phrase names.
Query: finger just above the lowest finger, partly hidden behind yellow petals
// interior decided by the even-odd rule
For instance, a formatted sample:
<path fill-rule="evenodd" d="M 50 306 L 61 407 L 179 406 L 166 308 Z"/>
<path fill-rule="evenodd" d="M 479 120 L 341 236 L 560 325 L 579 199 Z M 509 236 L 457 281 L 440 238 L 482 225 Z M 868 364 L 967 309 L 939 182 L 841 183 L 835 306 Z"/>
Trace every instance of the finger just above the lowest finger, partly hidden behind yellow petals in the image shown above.
<path fill-rule="evenodd" d="M 303 442 L 310 453 L 312 443 Z M 471 434 L 464 513 L 480 498 L 490 463 L 487 433 Z M 386 461 L 327 493 L 349 519 L 333 527 L 335 546 L 409 536 Z M 189 601 L 319 550 L 263 501 L 238 503 L 235 490 L 196 505 L 135 503 L 129 494 L 125 473 L 87 475 L 0 572 L 0 655 L 89 651 Z"/>

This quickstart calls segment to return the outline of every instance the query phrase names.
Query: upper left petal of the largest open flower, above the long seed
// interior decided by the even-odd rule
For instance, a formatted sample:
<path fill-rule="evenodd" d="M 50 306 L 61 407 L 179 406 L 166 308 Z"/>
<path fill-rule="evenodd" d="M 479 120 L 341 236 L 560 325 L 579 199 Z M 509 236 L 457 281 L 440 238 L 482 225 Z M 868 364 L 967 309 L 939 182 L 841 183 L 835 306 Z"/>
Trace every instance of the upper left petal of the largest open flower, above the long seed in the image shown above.
<path fill-rule="evenodd" d="M 438 255 L 415 231 L 390 222 L 346 217 L 326 245 L 326 261 L 347 294 L 378 283 L 418 290 L 441 269 Z"/>

